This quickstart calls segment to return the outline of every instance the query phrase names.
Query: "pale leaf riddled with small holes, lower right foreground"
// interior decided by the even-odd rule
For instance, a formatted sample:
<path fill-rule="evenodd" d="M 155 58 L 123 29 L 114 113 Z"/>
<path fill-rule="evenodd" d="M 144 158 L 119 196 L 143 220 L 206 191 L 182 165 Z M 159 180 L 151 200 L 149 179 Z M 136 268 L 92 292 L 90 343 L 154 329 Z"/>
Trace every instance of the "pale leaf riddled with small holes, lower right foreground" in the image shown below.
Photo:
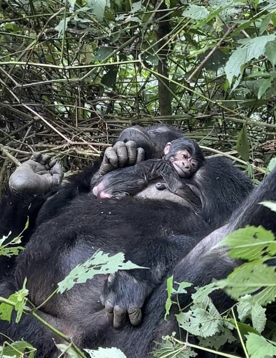
<path fill-rule="evenodd" d="M 180 312 L 175 316 L 181 328 L 199 337 L 208 337 L 217 333 L 219 319 L 221 319 L 217 310 L 211 313 L 203 308 Z"/>

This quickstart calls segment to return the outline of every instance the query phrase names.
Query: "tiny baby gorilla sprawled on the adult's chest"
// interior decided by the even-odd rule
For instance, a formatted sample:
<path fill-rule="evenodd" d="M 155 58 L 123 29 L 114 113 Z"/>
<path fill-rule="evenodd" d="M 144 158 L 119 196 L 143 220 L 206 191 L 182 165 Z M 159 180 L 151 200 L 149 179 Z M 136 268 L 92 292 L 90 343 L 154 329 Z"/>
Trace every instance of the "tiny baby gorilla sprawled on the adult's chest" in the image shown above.
<path fill-rule="evenodd" d="M 168 188 L 171 192 L 200 206 L 198 196 L 181 178 L 190 179 L 202 166 L 204 156 L 197 142 L 178 138 L 166 144 L 163 159 L 149 159 L 142 163 L 113 170 L 96 183 L 93 194 L 101 199 L 124 198 L 141 192 L 154 179 L 160 177 L 164 183 L 156 184 L 158 189 Z"/>

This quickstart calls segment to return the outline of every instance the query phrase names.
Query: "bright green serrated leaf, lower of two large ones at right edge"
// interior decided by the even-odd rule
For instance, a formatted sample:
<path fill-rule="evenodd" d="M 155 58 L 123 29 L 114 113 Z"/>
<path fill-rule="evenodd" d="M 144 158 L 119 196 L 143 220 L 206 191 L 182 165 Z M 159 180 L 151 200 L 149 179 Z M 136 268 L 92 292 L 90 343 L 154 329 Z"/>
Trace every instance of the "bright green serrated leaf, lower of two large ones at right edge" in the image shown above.
<path fill-rule="evenodd" d="M 234 299 L 260 290 L 251 297 L 251 302 L 265 306 L 276 297 L 275 268 L 262 261 L 247 262 L 234 269 L 227 279 L 217 281 L 217 286 Z"/>

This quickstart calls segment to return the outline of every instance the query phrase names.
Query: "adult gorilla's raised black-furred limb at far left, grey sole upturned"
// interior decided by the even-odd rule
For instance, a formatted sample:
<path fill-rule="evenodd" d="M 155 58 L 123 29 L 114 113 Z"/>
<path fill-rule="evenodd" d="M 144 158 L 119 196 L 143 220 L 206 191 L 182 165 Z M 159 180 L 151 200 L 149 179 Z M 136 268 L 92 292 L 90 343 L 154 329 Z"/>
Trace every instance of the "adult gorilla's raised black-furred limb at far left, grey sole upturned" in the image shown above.
<path fill-rule="evenodd" d="M 29 217 L 29 229 L 34 226 L 38 211 L 62 181 L 62 168 L 48 155 L 34 153 L 10 176 L 2 190 L 0 202 L 0 237 L 20 234 Z M 27 232 L 24 233 L 25 235 Z"/>

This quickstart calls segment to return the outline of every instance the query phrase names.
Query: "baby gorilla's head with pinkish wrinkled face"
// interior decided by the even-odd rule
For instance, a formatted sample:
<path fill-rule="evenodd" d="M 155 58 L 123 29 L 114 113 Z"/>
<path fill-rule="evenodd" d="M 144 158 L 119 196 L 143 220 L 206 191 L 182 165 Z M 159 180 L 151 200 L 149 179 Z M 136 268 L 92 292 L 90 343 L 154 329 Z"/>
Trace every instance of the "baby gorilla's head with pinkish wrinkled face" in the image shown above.
<path fill-rule="evenodd" d="M 190 178 L 202 166 L 204 155 L 196 141 L 182 137 L 166 144 L 163 159 L 171 163 L 181 178 Z"/>

